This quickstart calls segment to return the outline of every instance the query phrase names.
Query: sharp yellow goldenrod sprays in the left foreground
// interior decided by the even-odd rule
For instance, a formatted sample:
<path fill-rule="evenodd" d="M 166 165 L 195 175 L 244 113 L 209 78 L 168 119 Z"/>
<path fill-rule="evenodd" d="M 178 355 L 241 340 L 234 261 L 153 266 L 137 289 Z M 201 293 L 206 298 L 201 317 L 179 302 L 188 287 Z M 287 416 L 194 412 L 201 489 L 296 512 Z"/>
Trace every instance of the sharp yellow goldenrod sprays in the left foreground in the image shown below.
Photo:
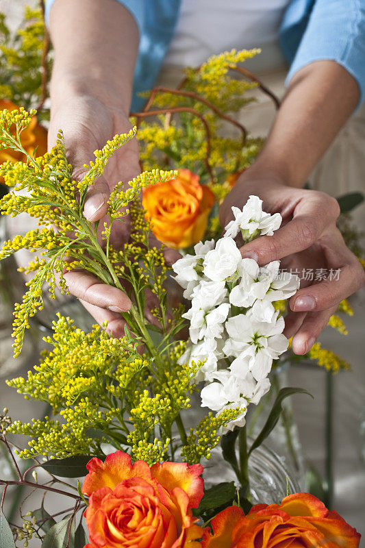
<path fill-rule="evenodd" d="M 23 109 L 0 112 L 4 147 L 24 153 L 20 136 L 32 114 Z M 10 132 L 13 124 L 14 136 Z M 112 154 L 134 135 L 135 129 L 117 135 L 103 149 L 95 151 L 95 160 L 86 166 L 86 175 L 79 183 L 71 180 L 72 168 L 66 160 L 61 132 L 50 153 L 40 158 L 27 155 L 26 163 L 5 162 L 0 166 L 0 176 L 12 186 L 0 201 L 0 211 L 13 216 L 27 212 L 42 225 L 42 229 L 8 240 L 0 251 L 0 260 L 18 249 L 38 253 L 24 269 L 34 272 L 34 277 L 28 282 L 23 303 L 15 306 L 15 354 L 21 351 L 29 319 L 42 308 L 45 284 L 51 297 L 55 297 L 56 275 L 63 292 L 68 292 L 64 272 L 73 269 L 84 269 L 103 283 L 126 292 L 123 278 L 134 301 L 131 310 L 123 313 L 133 337 L 126 329 L 125 337 L 118 340 L 97 325 L 90 333 L 84 333 L 71 319 L 59 316 L 53 323 L 53 338 L 45 338 L 51 350 L 43 353 L 40 364 L 28 372 L 27 378 L 8 382 L 25 398 L 48 403 L 54 415 L 24 424 L 15 421 L 8 427 L 8 434 L 30 436 L 29 447 L 19 453 L 21 458 L 99 456 L 103 454 L 103 444 L 109 443 L 153 464 L 173 458 L 176 445 L 171 443 L 172 425 L 178 421 L 186 460 L 199 462 L 200 456 L 208 457 L 210 447 L 218 443 L 218 429 L 236 416 L 235 411 L 218 418 L 207 416 L 186 440 L 180 412 L 190 406 L 190 381 L 201 364 L 177 364 L 184 343 L 175 343 L 174 336 L 184 320 L 180 310 L 168 314 L 165 283 L 169 271 L 164 249 L 151 247 L 150 225 L 138 201 L 144 186 L 171 179 L 174 172 L 153 170 L 128 184 L 117 184 L 108 201 L 109 221 L 104 225 L 101 242 L 97 238 L 99 223 L 87 221 L 82 213 L 87 188 L 103 173 Z M 127 214 L 132 225 L 130 240 L 121 249 L 114 249 L 109 243 L 112 224 L 123 221 Z M 157 342 L 152 340 L 144 319 L 147 291 L 158 302 L 153 314 L 160 327 L 151 325 L 158 332 Z M 138 353 L 141 341 L 142 354 Z"/>

